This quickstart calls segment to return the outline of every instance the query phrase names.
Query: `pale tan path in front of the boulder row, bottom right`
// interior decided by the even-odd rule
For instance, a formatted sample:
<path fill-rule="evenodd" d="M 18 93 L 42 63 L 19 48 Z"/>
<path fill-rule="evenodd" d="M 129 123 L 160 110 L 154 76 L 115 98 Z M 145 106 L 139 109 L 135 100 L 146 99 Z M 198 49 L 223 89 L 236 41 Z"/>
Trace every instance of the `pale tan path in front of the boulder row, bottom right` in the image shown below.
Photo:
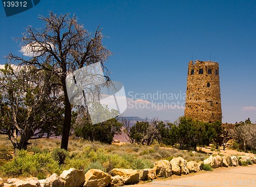
<path fill-rule="evenodd" d="M 176 179 L 172 179 L 172 178 Z M 163 187 L 163 186 L 205 186 L 205 187 L 256 187 L 256 165 L 217 168 L 214 171 L 183 175 L 181 178 L 172 176 L 169 180 L 157 179 L 150 183 L 129 185 L 134 187 Z"/>

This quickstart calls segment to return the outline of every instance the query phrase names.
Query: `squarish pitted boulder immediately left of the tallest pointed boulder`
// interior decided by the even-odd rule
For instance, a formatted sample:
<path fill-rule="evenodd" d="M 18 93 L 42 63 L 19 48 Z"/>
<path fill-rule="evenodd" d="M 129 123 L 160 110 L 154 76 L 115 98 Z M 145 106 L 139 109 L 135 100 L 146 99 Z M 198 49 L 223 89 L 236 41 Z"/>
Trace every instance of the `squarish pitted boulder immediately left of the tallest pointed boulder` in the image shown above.
<path fill-rule="evenodd" d="M 172 176 L 172 165 L 168 160 L 155 161 L 154 169 L 158 177 L 170 177 Z"/>

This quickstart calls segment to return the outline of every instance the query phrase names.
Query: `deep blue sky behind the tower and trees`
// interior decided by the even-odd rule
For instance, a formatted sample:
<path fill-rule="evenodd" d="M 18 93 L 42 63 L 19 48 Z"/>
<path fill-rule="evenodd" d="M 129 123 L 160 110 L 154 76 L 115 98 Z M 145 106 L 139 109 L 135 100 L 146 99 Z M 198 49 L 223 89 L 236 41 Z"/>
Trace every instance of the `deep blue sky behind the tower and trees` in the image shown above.
<path fill-rule="evenodd" d="M 184 115 L 178 103 L 185 102 L 187 64 L 193 58 L 219 62 L 222 122 L 256 121 L 256 1 L 41 0 L 9 17 L 0 7 L 0 64 L 9 52 L 22 55 L 12 37 L 21 37 L 29 25 L 43 27 L 38 15 L 75 14 L 84 28 L 93 32 L 99 25 L 109 37 L 103 44 L 114 55 L 106 66 L 112 80 L 123 83 L 131 104 L 124 116 L 173 122 Z"/>

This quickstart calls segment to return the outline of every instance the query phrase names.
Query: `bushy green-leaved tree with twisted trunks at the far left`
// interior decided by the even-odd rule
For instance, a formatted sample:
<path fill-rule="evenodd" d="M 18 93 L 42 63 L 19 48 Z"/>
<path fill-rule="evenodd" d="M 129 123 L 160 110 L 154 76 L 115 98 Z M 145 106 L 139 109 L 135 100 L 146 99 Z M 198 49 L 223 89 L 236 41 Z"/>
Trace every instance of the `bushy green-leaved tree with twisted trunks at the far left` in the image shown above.
<path fill-rule="evenodd" d="M 14 152 L 27 149 L 30 139 L 60 134 L 59 87 L 53 74 L 37 70 L 8 64 L 0 69 L 0 133 L 8 135 Z"/>

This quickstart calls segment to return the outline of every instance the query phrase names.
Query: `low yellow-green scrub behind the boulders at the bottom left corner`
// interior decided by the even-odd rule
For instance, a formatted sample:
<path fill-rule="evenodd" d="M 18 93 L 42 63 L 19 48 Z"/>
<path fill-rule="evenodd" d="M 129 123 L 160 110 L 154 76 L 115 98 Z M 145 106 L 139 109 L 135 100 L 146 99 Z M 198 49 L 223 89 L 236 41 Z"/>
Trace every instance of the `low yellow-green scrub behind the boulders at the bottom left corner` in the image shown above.
<path fill-rule="evenodd" d="M 5 163 L 2 167 L 7 176 L 48 176 L 52 173 L 60 174 L 58 162 L 49 153 L 29 154 L 25 150 L 18 152 L 17 157 Z"/>

